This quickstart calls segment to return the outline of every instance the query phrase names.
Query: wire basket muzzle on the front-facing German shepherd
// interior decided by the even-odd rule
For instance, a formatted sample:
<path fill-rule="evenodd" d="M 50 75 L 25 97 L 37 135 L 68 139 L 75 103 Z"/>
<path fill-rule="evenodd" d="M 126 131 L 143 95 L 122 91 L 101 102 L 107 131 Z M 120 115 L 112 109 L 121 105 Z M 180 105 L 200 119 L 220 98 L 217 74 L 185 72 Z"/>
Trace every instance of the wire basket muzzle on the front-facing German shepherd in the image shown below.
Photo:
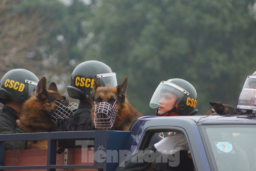
<path fill-rule="evenodd" d="M 95 105 L 94 111 L 94 124 L 95 128 L 99 130 L 111 130 L 116 120 L 116 114 L 118 110 L 116 109 L 116 101 L 113 105 L 107 102 L 100 102 Z"/>

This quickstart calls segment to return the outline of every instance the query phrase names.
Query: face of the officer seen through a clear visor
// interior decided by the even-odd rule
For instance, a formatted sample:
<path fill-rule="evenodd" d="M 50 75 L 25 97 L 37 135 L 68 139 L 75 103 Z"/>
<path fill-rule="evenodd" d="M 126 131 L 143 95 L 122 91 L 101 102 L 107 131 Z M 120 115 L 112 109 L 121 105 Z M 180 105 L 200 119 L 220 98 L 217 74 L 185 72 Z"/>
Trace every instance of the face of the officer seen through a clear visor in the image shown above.
<path fill-rule="evenodd" d="M 174 107 L 176 100 L 177 97 L 175 94 L 170 92 L 162 93 L 162 98 L 159 100 L 157 114 L 162 114 L 166 111 L 170 111 Z"/>

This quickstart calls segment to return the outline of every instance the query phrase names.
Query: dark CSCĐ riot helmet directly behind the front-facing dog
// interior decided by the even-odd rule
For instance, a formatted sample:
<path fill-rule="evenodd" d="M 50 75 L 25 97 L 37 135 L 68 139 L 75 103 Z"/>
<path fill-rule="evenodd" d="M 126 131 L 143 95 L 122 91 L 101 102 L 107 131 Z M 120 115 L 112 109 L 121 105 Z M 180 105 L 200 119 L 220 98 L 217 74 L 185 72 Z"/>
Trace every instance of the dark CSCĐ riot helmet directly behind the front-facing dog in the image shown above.
<path fill-rule="evenodd" d="M 105 84 L 112 87 L 117 86 L 116 74 L 109 66 L 97 60 L 88 60 L 74 69 L 70 86 L 67 86 L 69 96 L 76 99 L 89 98 L 95 75 L 97 75 L 98 83 L 102 84 L 101 86 L 105 86 Z"/>

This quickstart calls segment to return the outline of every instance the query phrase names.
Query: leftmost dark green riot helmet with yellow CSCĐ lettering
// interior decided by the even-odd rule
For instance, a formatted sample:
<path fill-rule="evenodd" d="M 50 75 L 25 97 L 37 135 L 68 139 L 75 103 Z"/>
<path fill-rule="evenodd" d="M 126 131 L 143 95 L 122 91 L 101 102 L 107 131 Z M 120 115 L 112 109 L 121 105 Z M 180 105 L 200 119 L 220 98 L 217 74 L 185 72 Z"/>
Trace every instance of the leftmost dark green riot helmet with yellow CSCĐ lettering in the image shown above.
<path fill-rule="evenodd" d="M 26 69 L 12 69 L 0 81 L 0 102 L 9 100 L 24 103 L 36 92 L 39 79 Z"/>

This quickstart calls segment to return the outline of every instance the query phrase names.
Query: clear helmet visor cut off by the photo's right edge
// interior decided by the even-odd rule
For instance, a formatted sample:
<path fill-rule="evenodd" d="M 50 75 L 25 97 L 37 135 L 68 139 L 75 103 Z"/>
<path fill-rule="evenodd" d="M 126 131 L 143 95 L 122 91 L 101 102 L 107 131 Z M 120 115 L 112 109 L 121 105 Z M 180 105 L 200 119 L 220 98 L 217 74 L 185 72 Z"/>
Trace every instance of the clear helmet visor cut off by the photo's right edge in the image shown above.
<path fill-rule="evenodd" d="M 239 96 L 237 109 L 244 113 L 256 113 L 256 89 L 244 88 Z"/>

